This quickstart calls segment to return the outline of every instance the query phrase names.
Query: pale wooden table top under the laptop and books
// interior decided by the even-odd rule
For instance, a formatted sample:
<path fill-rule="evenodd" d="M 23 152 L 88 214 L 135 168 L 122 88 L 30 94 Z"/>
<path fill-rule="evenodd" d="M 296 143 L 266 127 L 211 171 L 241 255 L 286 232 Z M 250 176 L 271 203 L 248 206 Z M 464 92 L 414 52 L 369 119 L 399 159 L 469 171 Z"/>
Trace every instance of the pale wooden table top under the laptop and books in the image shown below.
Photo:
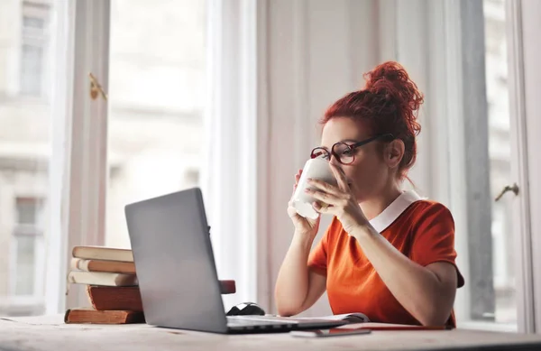
<path fill-rule="evenodd" d="M 307 339 L 289 334 L 226 336 L 144 324 L 66 325 L 62 318 L 0 319 L 0 350 L 541 350 L 541 335 L 461 329 Z"/>

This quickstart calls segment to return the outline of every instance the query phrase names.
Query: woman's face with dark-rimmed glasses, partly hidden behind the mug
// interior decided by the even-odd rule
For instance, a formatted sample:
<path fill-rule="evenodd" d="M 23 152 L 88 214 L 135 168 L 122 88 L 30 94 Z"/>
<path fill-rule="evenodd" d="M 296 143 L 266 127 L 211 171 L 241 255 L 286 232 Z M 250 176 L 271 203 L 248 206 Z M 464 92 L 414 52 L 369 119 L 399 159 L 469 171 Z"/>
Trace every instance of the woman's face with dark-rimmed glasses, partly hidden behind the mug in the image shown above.
<path fill-rule="evenodd" d="M 362 123 L 349 117 L 331 118 L 323 127 L 321 146 L 331 151 L 335 143 L 359 143 L 374 136 Z M 344 170 L 345 176 L 353 189 L 357 200 L 362 202 L 380 194 L 394 172 L 390 170 L 384 157 L 384 147 L 377 139 L 353 150 L 354 160 L 350 164 L 342 164 L 331 156 L 330 162 Z"/>

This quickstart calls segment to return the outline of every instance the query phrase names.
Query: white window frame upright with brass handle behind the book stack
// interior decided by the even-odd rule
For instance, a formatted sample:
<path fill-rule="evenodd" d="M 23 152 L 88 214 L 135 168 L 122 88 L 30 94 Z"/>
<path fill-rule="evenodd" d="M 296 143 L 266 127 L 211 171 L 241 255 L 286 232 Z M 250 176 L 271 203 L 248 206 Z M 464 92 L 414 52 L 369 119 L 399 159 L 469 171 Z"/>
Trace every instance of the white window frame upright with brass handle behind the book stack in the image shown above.
<path fill-rule="evenodd" d="M 57 0 L 55 14 L 47 313 L 87 305 L 77 284 L 65 293 L 71 248 L 105 244 L 107 105 L 88 73 L 107 91 L 110 1 Z"/>

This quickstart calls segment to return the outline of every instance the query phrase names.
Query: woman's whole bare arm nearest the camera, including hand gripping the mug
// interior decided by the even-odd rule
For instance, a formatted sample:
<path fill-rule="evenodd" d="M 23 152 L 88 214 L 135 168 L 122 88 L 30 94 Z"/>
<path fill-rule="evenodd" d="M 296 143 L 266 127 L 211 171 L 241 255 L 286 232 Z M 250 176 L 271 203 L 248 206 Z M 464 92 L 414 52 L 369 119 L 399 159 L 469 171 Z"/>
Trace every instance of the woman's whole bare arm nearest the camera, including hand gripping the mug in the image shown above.
<path fill-rule="evenodd" d="M 338 186 L 321 180 L 308 180 L 317 190 L 314 198 L 331 206 L 314 203 L 320 213 L 335 215 L 345 232 L 357 239 L 363 253 L 381 276 L 393 296 L 423 325 L 444 325 L 453 309 L 457 274 L 451 263 L 422 266 L 400 253 L 364 217 L 344 171 L 331 163 Z"/>

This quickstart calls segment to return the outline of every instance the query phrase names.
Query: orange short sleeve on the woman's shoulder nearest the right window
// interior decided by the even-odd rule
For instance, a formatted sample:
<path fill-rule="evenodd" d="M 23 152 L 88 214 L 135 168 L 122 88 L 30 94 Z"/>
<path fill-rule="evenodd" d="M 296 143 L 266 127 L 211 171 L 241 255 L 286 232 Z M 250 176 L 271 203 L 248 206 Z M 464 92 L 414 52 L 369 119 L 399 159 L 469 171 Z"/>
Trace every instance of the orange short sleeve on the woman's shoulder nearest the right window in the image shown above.
<path fill-rule="evenodd" d="M 452 263 L 458 287 L 462 287 L 464 279 L 455 263 L 454 219 L 449 209 L 439 203 L 430 204 L 416 218 L 413 231 L 411 259 L 422 266 L 436 262 Z"/>

